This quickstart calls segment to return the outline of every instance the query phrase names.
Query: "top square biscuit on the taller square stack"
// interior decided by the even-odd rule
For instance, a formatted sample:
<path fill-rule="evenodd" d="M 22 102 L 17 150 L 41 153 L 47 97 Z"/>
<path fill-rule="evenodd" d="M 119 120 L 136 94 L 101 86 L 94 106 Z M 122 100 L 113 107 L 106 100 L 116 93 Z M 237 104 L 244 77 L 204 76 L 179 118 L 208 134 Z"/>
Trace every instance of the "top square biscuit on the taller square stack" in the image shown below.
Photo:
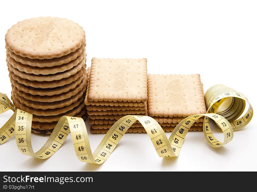
<path fill-rule="evenodd" d="M 147 101 L 147 60 L 92 58 L 88 101 Z"/>

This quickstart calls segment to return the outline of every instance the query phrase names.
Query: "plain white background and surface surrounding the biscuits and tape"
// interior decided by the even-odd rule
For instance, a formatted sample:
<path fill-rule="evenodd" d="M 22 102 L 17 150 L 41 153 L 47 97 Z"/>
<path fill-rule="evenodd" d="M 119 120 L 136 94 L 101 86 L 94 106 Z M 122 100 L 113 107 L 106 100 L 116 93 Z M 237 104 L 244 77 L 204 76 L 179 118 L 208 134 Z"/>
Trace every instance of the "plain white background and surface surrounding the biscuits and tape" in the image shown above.
<path fill-rule="evenodd" d="M 92 57 L 145 57 L 148 73 L 199 73 L 205 91 L 225 84 L 245 94 L 256 109 L 256 1 L 13 0 L 1 1 L 0 7 L 0 91 L 9 98 L 6 31 L 27 18 L 58 16 L 84 28 L 88 66 Z M 1 114 L 0 124 L 11 114 Z M 203 132 L 189 132 L 179 157 L 172 159 L 159 158 L 147 134 L 126 134 L 102 165 L 80 162 L 70 136 L 47 160 L 21 154 L 13 137 L 0 146 L 1 171 L 257 171 L 255 125 L 254 116 L 222 148 L 210 147 Z M 103 136 L 89 133 L 92 150 Z M 32 134 L 34 151 L 47 137 Z"/>

